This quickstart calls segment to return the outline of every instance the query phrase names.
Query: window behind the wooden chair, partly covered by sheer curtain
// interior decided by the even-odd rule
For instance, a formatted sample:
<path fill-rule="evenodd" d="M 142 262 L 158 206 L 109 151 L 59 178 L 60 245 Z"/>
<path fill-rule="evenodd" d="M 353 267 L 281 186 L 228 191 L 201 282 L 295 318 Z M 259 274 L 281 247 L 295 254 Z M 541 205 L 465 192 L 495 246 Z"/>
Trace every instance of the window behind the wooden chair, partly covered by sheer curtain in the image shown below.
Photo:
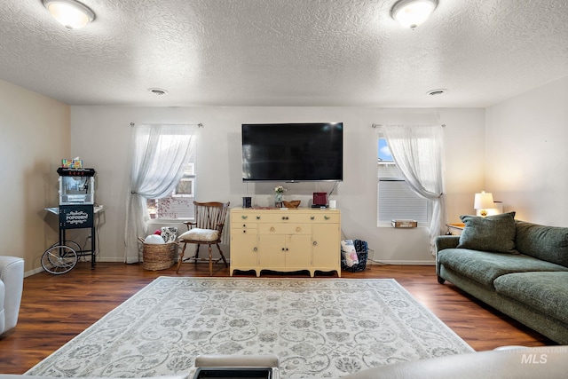
<path fill-rule="evenodd" d="M 185 167 L 184 176 L 179 179 L 177 186 L 170 195 L 162 199 L 148 199 L 148 211 L 153 219 L 184 219 L 194 218 L 193 200 L 195 200 L 195 149 L 190 162 Z"/>

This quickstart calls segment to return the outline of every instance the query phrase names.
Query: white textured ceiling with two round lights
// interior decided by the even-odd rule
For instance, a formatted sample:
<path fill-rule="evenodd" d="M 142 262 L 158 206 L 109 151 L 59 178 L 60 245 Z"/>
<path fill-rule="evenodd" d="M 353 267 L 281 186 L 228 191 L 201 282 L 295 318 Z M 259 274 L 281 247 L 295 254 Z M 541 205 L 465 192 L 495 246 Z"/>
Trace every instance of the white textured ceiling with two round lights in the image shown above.
<path fill-rule="evenodd" d="M 2 3 L 0 79 L 70 105 L 486 107 L 568 75 L 568 0 L 438 0 L 415 30 L 395 0 L 83 0 L 79 30 Z"/>

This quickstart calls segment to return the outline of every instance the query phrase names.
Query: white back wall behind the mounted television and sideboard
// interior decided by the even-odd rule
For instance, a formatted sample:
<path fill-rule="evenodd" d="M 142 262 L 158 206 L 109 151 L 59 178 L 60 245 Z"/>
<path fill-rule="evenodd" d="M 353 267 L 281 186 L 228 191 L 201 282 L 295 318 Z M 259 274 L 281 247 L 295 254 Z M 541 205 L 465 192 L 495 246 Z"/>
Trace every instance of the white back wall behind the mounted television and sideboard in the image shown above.
<path fill-rule="evenodd" d="M 100 254 L 105 261 L 123 260 L 125 199 L 129 182 L 130 122 L 198 123 L 198 201 L 253 203 L 272 201 L 272 184 L 241 181 L 241 123 L 343 122 L 344 178 L 332 199 L 342 210 L 343 233 L 369 242 L 375 259 L 390 263 L 431 264 L 427 231 L 376 227 L 376 142 L 373 123 L 389 109 L 367 107 L 72 107 L 71 155 L 80 155 L 98 172 L 96 201 L 106 211 L 99 226 Z M 423 110 L 422 110 L 423 111 Z M 473 193 L 483 186 L 484 109 L 433 109 L 446 124 L 448 220 L 471 213 Z M 398 110 L 400 112 L 400 110 Z M 413 112 L 413 110 L 408 110 Z M 284 184 L 286 199 L 302 200 L 328 192 L 332 183 Z M 225 251 L 228 252 L 225 247 Z"/>

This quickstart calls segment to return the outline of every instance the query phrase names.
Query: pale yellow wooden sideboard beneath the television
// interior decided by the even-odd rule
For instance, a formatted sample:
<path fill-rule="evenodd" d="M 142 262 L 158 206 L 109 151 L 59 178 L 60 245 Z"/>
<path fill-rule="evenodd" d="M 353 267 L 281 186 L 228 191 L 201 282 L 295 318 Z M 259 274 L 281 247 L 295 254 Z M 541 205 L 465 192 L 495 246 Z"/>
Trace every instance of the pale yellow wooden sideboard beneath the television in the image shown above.
<path fill-rule="evenodd" d="M 231 209 L 231 275 L 235 270 L 337 272 L 338 209 Z"/>

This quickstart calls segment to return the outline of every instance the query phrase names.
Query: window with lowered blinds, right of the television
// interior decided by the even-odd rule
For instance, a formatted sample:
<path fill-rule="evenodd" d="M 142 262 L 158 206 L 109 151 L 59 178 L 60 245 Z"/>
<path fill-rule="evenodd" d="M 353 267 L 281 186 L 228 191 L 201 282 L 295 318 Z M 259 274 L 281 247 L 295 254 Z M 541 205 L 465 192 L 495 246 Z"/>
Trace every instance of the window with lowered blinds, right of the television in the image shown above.
<path fill-rule="evenodd" d="M 377 147 L 377 225 L 390 226 L 394 219 L 411 219 L 419 225 L 430 223 L 430 201 L 414 193 L 390 155 L 385 138 Z"/>

